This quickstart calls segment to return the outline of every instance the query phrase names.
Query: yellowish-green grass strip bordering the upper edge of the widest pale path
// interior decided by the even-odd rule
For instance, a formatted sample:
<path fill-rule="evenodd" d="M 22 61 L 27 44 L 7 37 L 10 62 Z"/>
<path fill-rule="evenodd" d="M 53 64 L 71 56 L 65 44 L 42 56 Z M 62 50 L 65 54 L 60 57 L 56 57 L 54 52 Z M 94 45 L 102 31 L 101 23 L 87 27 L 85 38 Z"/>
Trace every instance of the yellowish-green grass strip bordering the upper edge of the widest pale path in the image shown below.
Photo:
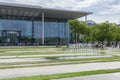
<path fill-rule="evenodd" d="M 113 61 L 120 61 L 120 57 L 116 56 L 116 57 L 104 57 L 104 58 L 85 58 L 85 59 L 70 59 L 70 60 L 0 63 L 1 65 L 0 69 L 54 66 L 54 65 L 65 65 L 65 64 L 80 64 L 80 63 L 82 64 L 82 63 L 95 63 L 95 62 L 113 62 Z M 31 64 L 31 65 L 27 66 L 27 64 Z"/>

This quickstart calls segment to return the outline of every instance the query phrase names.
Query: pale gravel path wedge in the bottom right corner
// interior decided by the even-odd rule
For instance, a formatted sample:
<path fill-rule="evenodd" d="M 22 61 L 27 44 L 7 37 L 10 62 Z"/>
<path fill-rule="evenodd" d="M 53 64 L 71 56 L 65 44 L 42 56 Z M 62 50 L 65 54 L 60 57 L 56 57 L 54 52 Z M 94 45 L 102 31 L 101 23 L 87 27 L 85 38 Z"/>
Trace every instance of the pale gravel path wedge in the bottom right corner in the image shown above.
<path fill-rule="evenodd" d="M 120 80 L 120 73 L 72 77 L 72 78 L 64 78 L 57 80 Z"/>

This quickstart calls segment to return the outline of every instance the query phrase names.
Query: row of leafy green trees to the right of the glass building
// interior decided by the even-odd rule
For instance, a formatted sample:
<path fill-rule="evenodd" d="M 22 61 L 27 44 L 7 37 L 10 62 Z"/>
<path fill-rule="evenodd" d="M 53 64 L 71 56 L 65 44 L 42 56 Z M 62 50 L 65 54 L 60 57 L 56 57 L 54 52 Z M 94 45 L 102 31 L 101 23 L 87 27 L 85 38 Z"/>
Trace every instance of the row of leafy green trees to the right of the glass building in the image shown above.
<path fill-rule="evenodd" d="M 69 20 L 71 33 L 74 39 L 84 42 L 111 42 L 120 41 L 120 26 L 108 21 L 87 26 L 84 21 Z M 83 35 L 82 37 L 80 35 Z"/>

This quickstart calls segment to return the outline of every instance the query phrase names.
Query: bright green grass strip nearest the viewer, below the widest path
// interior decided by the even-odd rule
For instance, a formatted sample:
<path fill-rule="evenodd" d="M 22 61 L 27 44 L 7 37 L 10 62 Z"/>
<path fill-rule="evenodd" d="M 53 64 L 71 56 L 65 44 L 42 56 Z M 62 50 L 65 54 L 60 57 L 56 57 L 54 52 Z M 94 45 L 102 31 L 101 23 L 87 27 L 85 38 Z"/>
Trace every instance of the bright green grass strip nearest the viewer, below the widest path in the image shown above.
<path fill-rule="evenodd" d="M 77 77 L 77 76 L 88 76 L 88 75 L 96 75 L 96 74 L 117 73 L 117 72 L 120 72 L 120 69 L 95 70 L 95 71 L 53 74 L 53 75 L 40 75 L 40 76 L 32 76 L 32 77 L 11 78 L 11 79 L 4 79 L 4 80 L 51 80 L 51 79 L 69 78 L 69 77 Z"/>

